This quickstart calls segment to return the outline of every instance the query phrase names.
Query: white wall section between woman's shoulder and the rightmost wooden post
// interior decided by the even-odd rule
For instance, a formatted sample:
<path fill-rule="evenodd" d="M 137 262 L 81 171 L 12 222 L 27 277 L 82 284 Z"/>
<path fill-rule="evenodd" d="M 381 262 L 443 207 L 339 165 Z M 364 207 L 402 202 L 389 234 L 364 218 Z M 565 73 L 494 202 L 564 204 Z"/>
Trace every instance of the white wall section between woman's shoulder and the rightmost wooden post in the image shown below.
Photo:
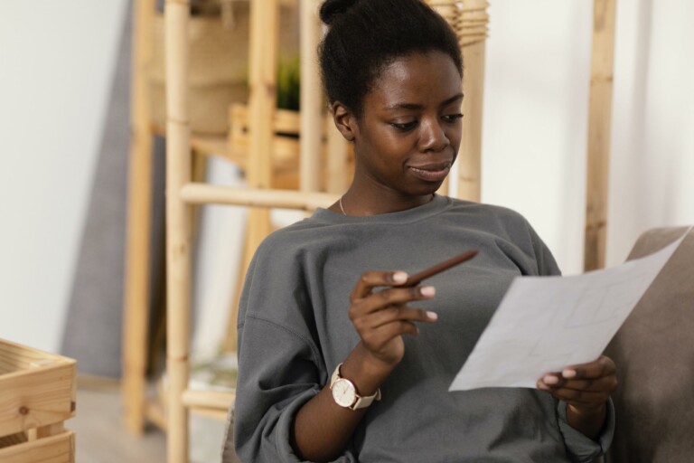
<path fill-rule="evenodd" d="M 576 271 L 583 259 L 592 2 L 491 4 L 482 200 L 524 214 L 560 267 Z"/>

